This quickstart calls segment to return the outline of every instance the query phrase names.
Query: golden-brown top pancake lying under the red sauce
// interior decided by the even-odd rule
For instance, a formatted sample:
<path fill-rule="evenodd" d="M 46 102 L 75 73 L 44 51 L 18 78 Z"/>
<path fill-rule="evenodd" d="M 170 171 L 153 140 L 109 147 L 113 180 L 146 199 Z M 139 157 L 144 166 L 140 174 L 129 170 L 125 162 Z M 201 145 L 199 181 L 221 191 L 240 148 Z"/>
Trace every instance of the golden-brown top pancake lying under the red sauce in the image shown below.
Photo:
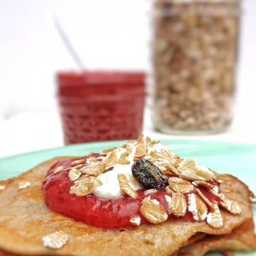
<path fill-rule="evenodd" d="M 0 248 L 20 255 L 155 255 L 173 254 L 196 233 L 226 234 L 252 218 L 250 191 L 231 175 L 218 175 L 221 188 L 228 198 L 238 202 L 242 214 L 232 215 L 222 209 L 222 228 L 211 228 L 204 222 L 165 222 L 144 225 L 126 230 L 102 230 L 71 218 L 51 212 L 44 204 L 42 182 L 54 158 L 7 181 L 7 188 L 0 192 Z M 18 190 L 19 182 L 31 186 Z M 55 231 L 70 236 L 68 243 L 58 250 L 47 249 L 42 237 Z"/>

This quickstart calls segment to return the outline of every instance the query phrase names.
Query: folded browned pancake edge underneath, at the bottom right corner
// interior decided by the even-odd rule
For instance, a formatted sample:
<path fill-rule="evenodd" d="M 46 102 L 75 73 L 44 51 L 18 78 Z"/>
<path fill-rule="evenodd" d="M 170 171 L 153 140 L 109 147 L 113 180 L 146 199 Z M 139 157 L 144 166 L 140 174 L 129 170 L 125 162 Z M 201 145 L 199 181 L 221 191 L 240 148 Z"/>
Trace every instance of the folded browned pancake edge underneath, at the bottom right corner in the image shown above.
<path fill-rule="evenodd" d="M 256 249 L 253 220 L 247 220 L 230 234 L 208 236 L 182 247 L 175 256 L 202 256 L 210 251 L 249 251 Z"/>

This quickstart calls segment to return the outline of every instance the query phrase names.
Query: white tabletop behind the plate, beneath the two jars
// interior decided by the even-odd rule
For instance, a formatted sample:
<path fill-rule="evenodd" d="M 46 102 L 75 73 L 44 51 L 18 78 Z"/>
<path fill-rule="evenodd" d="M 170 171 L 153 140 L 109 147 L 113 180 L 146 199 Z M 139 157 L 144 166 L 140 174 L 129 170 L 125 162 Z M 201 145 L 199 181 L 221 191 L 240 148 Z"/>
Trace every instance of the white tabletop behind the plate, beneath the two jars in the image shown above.
<path fill-rule="evenodd" d="M 150 110 L 145 110 L 143 134 L 153 139 L 180 138 L 256 143 L 256 105 L 236 108 L 231 127 L 222 134 L 177 136 L 161 134 L 151 126 Z M 25 112 L 9 119 L 0 119 L 0 158 L 12 154 L 42 150 L 63 145 L 62 129 L 57 111 Z"/>

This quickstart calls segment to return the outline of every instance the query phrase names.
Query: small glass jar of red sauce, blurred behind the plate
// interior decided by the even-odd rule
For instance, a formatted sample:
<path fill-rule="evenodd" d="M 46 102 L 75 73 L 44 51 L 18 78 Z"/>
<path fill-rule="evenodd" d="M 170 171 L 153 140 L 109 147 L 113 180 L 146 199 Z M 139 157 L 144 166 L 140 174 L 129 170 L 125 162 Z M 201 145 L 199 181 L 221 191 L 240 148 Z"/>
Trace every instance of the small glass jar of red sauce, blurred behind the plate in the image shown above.
<path fill-rule="evenodd" d="M 65 144 L 137 138 L 142 133 L 143 72 L 60 72 L 57 97 Z"/>

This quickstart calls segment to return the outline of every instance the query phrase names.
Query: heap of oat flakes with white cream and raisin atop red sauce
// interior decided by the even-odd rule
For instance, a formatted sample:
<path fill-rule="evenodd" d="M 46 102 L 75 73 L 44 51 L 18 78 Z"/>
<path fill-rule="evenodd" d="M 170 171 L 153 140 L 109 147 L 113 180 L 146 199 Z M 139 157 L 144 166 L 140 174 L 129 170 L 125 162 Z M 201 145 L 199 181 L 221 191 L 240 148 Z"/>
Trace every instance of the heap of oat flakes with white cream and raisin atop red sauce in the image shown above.
<path fill-rule="evenodd" d="M 76 159 L 71 167 L 57 167 L 54 174 L 63 170 L 68 171 L 73 182 L 71 194 L 141 200 L 141 217 L 153 224 L 166 222 L 170 215 L 184 217 L 191 212 L 196 222 L 206 221 L 212 228 L 220 228 L 220 207 L 231 214 L 241 214 L 238 202 L 221 193 L 222 181 L 215 180 L 212 170 L 195 159 L 180 158 L 167 146 L 143 135 L 125 145 L 102 150 L 100 155 L 92 153 L 88 158 Z M 21 186 L 28 185 L 25 182 Z M 218 202 L 206 194 L 212 194 Z M 254 200 L 255 197 L 251 199 Z M 164 205 L 160 201 L 165 201 Z M 135 226 L 141 221 L 138 216 L 130 218 L 130 224 Z"/>

